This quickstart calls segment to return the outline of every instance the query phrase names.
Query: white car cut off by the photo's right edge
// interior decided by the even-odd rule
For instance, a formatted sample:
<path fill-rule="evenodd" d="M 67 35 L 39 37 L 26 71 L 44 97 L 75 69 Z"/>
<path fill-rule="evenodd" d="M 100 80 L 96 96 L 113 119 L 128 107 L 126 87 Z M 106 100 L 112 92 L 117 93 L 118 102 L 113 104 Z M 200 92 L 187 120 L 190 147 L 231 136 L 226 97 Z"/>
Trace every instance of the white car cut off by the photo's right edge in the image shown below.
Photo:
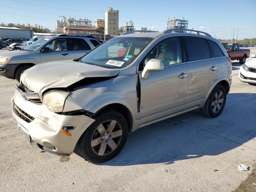
<path fill-rule="evenodd" d="M 241 82 L 256 83 L 256 54 L 251 55 L 252 60 L 240 67 L 239 80 Z"/>

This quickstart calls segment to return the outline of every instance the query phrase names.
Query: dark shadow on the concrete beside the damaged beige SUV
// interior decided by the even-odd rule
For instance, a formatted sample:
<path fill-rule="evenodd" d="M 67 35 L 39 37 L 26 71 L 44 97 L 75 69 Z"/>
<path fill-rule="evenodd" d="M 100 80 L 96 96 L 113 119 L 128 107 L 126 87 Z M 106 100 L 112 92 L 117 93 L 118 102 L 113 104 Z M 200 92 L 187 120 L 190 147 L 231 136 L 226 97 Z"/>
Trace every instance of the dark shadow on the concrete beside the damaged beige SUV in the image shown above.
<path fill-rule="evenodd" d="M 179 160 L 216 156 L 256 137 L 256 94 L 230 93 L 217 118 L 200 110 L 140 128 L 128 136 L 118 156 L 100 165 L 172 164 Z"/>

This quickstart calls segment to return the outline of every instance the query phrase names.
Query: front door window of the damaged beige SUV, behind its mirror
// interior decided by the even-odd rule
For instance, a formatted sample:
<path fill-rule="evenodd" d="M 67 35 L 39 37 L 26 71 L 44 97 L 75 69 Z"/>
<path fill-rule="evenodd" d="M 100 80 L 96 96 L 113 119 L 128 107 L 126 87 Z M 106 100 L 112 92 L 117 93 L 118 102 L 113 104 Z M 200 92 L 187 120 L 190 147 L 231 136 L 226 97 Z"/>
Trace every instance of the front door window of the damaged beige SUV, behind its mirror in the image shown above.
<path fill-rule="evenodd" d="M 179 38 L 167 38 L 154 46 L 140 63 L 139 71 L 143 70 L 150 59 L 159 59 L 164 66 L 181 63 L 182 52 Z"/>

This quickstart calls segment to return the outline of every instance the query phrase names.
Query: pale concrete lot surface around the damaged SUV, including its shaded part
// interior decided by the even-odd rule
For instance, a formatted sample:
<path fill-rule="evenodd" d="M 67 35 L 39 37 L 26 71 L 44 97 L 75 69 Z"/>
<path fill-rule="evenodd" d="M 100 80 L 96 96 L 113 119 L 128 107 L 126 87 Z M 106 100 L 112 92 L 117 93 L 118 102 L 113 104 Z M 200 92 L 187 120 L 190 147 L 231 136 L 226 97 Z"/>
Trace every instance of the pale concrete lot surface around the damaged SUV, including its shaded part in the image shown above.
<path fill-rule="evenodd" d="M 141 128 L 116 158 L 99 165 L 28 146 L 11 116 L 16 80 L 0 76 L 0 191 L 253 192 L 255 183 L 246 181 L 255 178 L 256 86 L 239 81 L 240 66 L 233 61 L 220 116 L 194 110 Z M 238 164 L 250 170 L 239 171 Z"/>

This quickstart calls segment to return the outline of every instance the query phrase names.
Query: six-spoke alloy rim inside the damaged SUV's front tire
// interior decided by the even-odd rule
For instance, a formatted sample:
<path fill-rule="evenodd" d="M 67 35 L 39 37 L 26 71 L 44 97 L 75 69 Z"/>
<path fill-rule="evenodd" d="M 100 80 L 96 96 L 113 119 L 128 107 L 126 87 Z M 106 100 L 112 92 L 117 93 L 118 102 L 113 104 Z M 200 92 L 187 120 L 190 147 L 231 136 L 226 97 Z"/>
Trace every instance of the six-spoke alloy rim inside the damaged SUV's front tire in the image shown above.
<path fill-rule="evenodd" d="M 91 147 L 97 155 L 105 156 L 118 147 L 121 139 L 121 125 L 115 120 L 107 120 L 102 122 L 92 134 Z"/>

